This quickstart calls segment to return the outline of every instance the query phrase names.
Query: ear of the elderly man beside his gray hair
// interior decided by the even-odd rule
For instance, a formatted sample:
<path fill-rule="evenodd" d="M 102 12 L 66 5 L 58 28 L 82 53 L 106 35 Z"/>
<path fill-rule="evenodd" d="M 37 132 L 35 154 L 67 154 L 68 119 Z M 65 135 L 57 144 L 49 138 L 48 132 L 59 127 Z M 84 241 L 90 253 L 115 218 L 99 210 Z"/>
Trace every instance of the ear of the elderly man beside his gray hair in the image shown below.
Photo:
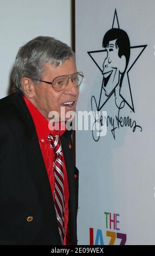
<path fill-rule="evenodd" d="M 34 83 L 28 77 L 21 78 L 21 85 L 23 88 L 24 95 L 28 98 L 32 98 L 34 96 Z"/>

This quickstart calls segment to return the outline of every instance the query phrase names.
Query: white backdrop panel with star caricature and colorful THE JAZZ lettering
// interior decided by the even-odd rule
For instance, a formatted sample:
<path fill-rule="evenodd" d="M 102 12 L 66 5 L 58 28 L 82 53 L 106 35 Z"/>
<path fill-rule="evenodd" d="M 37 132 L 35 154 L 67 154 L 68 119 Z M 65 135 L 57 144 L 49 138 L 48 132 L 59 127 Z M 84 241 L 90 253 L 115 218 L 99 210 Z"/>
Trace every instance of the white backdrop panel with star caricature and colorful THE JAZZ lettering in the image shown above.
<path fill-rule="evenodd" d="M 77 110 L 107 111 L 108 121 L 104 137 L 76 131 L 81 245 L 155 244 L 154 12 L 154 0 L 76 0 L 77 64 L 85 74 Z M 112 27 L 127 33 L 130 60 L 120 92 L 118 84 L 106 96 L 102 65 L 114 67 L 102 40 Z"/>

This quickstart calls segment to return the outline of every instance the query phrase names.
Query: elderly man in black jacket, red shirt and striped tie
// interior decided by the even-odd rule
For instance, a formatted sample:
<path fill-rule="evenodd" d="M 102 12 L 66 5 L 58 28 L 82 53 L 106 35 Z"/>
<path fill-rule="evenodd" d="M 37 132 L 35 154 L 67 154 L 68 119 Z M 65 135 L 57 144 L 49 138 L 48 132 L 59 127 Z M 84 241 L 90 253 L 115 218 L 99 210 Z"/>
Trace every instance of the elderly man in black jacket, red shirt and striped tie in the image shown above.
<path fill-rule="evenodd" d="M 0 101 L 0 245 L 77 243 L 78 169 L 65 124 L 82 78 L 59 40 L 38 36 L 18 51 L 16 92 Z M 60 129 L 50 129 L 52 111 Z"/>

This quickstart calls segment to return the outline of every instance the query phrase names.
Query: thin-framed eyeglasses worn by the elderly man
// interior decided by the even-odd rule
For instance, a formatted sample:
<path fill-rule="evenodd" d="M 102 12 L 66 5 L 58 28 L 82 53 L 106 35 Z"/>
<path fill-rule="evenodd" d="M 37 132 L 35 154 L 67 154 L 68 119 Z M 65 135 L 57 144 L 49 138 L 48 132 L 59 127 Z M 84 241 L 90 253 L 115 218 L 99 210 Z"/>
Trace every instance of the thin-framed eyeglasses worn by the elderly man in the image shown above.
<path fill-rule="evenodd" d="M 53 89 L 56 90 L 57 92 L 59 92 L 67 86 L 67 84 L 69 82 L 69 78 L 72 80 L 72 83 L 74 83 L 75 87 L 79 87 L 80 84 L 82 83 L 83 77 L 84 76 L 83 76 L 82 72 L 76 72 L 72 75 L 57 76 L 53 79 L 52 82 L 38 80 L 33 77 L 30 77 L 30 78 L 33 80 L 36 80 L 36 81 L 43 82 L 43 83 L 51 84 L 51 86 L 53 86 Z"/>

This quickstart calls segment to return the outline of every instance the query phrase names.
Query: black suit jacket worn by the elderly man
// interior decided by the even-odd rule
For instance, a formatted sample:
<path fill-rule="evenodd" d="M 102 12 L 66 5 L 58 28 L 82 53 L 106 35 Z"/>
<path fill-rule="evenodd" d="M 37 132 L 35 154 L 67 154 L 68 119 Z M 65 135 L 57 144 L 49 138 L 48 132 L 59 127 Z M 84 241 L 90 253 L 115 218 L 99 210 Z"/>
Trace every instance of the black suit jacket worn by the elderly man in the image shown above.
<path fill-rule="evenodd" d="M 66 131 L 61 143 L 69 185 L 69 230 L 76 245 L 78 169 L 69 148 L 71 133 Z M 61 245 L 34 122 L 20 94 L 0 100 L 0 208 L 0 245 Z"/>

